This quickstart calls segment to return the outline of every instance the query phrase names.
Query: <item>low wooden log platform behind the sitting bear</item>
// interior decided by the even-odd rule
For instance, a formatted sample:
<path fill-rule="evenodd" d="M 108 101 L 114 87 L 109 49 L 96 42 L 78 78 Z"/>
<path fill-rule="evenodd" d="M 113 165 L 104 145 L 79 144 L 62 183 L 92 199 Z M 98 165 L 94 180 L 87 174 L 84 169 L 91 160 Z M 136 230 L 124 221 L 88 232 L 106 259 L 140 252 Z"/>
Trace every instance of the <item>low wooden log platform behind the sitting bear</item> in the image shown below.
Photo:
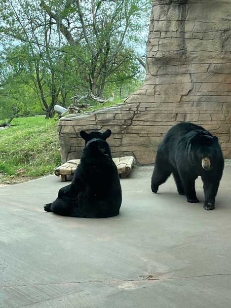
<path fill-rule="evenodd" d="M 132 171 L 132 167 L 135 163 L 133 156 L 124 156 L 113 158 L 118 174 L 120 178 L 124 179 Z M 55 169 L 55 175 L 61 176 L 61 181 L 66 182 L 67 176 L 72 177 L 76 171 L 77 165 L 80 163 L 80 159 L 72 159 L 65 162 L 63 165 Z"/>

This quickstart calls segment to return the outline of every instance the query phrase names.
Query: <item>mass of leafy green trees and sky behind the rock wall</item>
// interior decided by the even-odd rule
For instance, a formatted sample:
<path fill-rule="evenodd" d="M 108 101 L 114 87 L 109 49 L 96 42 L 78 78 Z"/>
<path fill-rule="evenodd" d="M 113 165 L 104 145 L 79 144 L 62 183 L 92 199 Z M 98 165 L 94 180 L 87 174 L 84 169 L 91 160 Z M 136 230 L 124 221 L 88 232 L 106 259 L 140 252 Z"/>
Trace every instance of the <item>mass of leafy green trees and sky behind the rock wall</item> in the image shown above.
<path fill-rule="evenodd" d="M 138 84 L 150 8 L 150 0 L 0 1 L 0 118 L 11 106 L 52 116 L 54 104 L 68 107 L 88 88 L 107 98 Z"/>

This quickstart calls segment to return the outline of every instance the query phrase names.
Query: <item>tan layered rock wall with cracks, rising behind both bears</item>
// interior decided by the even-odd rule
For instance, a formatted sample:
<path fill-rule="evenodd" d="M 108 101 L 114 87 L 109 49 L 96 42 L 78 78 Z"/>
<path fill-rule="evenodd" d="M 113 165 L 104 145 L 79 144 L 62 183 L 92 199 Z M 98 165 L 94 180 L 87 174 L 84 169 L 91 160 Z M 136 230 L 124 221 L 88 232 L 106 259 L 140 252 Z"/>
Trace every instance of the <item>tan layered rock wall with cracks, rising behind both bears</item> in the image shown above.
<path fill-rule="evenodd" d="M 144 86 L 125 104 L 61 119 L 63 162 L 79 158 L 81 129 L 110 128 L 114 157 L 154 163 L 159 142 L 181 121 L 217 135 L 231 158 L 231 0 L 154 0 L 146 63 Z"/>

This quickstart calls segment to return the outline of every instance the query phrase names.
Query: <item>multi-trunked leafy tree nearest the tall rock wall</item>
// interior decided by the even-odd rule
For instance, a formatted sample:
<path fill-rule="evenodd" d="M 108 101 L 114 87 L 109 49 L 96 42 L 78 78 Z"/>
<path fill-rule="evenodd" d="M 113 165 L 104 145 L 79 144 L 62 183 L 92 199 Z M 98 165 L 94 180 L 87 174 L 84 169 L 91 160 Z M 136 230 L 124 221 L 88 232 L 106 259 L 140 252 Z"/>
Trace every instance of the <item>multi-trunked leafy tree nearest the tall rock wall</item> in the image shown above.
<path fill-rule="evenodd" d="M 133 68 L 130 78 L 138 74 L 134 50 L 125 39 L 136 40 L 133 35 L 142 28 L 149 1 L 50 0 L 47 4 L 41 0 L 41 7 L 71 46 L 83 46 L 85 56 L 78 60 L 86 69 L 93 94 L 102 96 L 107 79 L 121 73 L 121 68 L 125 75 L 127 67 Z"/>

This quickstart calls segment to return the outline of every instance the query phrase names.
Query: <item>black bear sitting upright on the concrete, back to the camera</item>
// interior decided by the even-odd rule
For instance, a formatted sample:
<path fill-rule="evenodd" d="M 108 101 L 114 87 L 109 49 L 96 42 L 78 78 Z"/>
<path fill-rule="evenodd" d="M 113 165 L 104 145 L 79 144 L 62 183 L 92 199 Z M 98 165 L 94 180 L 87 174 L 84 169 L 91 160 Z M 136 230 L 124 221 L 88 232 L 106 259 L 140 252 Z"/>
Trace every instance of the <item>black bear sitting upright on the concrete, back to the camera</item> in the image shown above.
<path fill-rule="evenodd" d="M 80 132 L 85 140 L 85 148 L 72 183 L 59 190 L 58 198 L 46 204 L 45 211 L 85 218 L 119 214 L 121 186 L 116 164 L 106 142 L 111 133 L 109 129 L 104 133 Z"/>

